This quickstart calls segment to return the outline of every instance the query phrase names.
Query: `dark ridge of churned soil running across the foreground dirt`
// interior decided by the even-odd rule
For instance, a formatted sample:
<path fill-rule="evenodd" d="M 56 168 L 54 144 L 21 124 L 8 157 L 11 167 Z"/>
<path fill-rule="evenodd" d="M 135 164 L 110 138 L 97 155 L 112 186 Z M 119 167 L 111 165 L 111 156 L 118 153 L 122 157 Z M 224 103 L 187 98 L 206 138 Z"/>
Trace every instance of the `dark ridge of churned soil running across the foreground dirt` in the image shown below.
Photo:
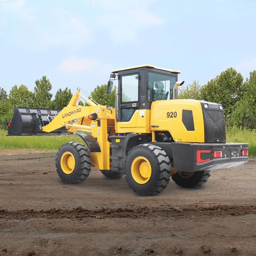
<path fill-rule="evenodd" d="M 83 218 L 140 218 L 140 217 L 184 217 L 184 216 L 235 216 L 248 213 L 256 214 L 256 205 L 187 205 L 182 207 L 131 207 L 131 208 L 104 208 L 96 210 L 84 209 L 81 206 L 73 209 L 50 209 L 35 211 L 33 209 L 24 209 L 17 211 L 8 211 L 0 209 L 0 219 L 83 219 Z"/>

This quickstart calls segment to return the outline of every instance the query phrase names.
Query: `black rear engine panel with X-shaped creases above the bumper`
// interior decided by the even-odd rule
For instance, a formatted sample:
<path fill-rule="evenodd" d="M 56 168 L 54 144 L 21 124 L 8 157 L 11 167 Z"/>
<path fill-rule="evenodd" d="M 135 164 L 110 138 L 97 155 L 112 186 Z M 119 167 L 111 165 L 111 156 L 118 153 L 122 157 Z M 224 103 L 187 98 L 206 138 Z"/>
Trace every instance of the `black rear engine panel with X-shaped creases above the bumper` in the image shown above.
<path fill-rule="evenodd" d="M 225 121 L 223 112 L 220 110 L 205 109 L 204 113 L 205 142 L 226 141 Z"/>

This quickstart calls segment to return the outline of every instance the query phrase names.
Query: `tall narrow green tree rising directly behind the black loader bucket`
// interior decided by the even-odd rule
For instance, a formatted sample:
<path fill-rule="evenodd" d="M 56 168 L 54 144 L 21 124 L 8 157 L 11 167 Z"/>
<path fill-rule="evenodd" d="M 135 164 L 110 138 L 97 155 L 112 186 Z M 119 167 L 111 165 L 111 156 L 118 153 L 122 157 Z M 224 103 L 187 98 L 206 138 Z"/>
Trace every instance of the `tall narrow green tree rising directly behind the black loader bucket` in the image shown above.
<path fill-rule="evenodd" d="M 46 76 L 43 76 L 40 80 L 36 80 L 36 86 L 34 88 L 34 108 L 50 108 L 52 93 L 52 84 Z"/>

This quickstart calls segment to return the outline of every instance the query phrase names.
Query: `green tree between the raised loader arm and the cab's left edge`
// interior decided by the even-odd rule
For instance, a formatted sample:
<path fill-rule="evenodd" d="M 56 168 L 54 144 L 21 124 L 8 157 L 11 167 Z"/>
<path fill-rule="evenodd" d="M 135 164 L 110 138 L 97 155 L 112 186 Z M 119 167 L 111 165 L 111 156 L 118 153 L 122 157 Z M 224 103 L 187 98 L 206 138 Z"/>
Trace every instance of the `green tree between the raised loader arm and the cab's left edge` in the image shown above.
<path fill-rule="evenodd" d="M 111 94 L 107 94 L 107 84 L 102 84 L 101 86 L 98 85 L 91 92 L 91 96 L 92 97 L 89 96 L 88 98 L 95 100 L 100 105 L 114 107 L 116 100 L 116 87 Z"/>

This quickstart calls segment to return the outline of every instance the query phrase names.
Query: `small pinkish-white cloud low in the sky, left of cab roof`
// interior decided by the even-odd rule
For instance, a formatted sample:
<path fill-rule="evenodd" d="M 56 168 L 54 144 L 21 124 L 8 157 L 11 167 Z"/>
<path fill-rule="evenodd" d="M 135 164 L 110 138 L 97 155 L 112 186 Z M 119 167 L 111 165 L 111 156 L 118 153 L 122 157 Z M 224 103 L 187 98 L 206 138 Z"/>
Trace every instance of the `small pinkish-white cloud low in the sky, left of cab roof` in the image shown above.
<path fill-rule="evenodd" d="M 110 73 L 110 66 L 98 61 L 98 60 L 88 60 L 80 59 L 77 57 L 70 57 L 63 60 L 59 67 L 62 71 L 73 73 L 73 72 L 91 72 L 97 70 L 98 74 Z"/>

